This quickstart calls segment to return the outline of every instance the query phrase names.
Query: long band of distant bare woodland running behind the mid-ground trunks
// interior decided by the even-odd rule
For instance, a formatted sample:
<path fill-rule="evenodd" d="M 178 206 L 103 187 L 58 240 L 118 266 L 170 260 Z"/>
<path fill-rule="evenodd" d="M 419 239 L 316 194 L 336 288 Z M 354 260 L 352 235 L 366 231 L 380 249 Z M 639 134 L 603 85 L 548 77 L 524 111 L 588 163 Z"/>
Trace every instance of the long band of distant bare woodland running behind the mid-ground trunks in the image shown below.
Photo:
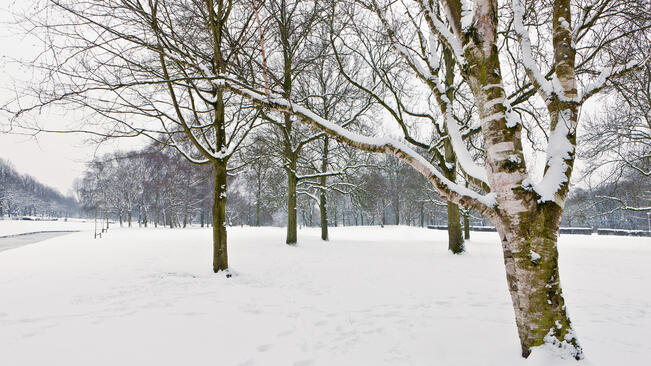
<path fill-rule="evenodd" d="M 228 177 L 226 223 L 285 226 L 289 189 L 282 150 L 275 151 L 272 144 L 256 137 L 253 140 L 258 143 L 244 149 L 235 164 L 240 168 Z M 445 201 L 407 164 L 392 156 L 360 154 L 334 144 L 331 152 L 326 176 L 315 166 L 318 151 L 305 149 L 298 159 L 298 226 L 447 224 Z M 212 169 L 152 145 L 95 158 L 75 182 L 75 193 L 87 217 L 109 219 L 121 226 L 209 226 Z M 321 192 L 326 207 L 321 207 Z M 469 211 L 463 214 L 473 225 L 485 220 Z"/>

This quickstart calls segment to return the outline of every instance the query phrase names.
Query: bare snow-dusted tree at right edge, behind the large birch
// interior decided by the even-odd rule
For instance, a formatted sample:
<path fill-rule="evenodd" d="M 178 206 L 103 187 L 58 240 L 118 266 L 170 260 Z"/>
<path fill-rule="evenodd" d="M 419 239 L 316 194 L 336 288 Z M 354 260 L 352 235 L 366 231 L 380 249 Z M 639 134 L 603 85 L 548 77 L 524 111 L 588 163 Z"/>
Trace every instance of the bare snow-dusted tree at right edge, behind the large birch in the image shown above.
<path fill-rule="evenodd" d="M 583 129 L 584 175 L 612 192 L 596 198 L 625 211 L 651 211 L 651 67 L 613 80 L 611 89 L 615 95 L 602 98 L 603 113 L 587 119 Z M 625 189 L 629 198 L 622 197 L 618 186 L 629 182 L 637 184 Z"/>

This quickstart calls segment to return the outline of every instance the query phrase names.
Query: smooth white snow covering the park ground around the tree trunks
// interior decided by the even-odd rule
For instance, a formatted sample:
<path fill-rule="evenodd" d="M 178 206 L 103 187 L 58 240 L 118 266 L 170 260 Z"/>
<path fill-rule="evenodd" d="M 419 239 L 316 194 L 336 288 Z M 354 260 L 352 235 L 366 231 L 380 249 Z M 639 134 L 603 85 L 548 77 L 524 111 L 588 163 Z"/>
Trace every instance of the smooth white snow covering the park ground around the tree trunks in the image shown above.
<path fill-rule="evenodd" d="M 519 356 L 495 233 L 229 228 L 82 232 L 0 253 L 0 364 L 574 365 Z M 651 360 L 651 239 L 564 235 L 562 283 L 590 365 Z"/>

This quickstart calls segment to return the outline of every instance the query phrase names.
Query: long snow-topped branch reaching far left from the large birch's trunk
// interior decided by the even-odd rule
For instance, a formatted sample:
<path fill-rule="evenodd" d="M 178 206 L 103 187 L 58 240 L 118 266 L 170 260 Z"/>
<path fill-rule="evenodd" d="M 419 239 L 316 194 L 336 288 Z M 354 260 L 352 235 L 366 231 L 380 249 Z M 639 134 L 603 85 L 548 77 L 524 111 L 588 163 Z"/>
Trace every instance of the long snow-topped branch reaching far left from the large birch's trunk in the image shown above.
<path fill-rule="evenodd" d="M 369 152 L 391 154 L 423 174 L 437 188 L 437 191 L 442 197 L 462 206 L 472 207 L 487 216 L 491 216 L 494 213 L 493 207 L 497 204 L 494 193 L 482 195 L 450 181 L 425 157 L 401 141 L 388 137 L 370 137 L 349 131 L 277 94 L 271 93 L 267 96 L 227 76 L 220 76 L 215 82 L 228 88 L 233 93 L 248 98 L 263 107 L 292 113 L 303 123 L 318 128 L 352 147 Z"/>

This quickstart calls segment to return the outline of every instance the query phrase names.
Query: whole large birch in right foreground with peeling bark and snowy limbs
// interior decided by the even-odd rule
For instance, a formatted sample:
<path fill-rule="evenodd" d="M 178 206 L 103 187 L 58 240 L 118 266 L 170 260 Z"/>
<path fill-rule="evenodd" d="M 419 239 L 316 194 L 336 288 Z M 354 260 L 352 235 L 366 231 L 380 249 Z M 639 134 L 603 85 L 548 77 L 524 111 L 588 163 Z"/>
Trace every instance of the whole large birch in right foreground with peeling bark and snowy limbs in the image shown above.
<path fill-rule="evenodd" d="M 360 19 L 374 14 L 377 22 L 389 27 L 392 17 L 400 17 L 405 8 L 415 9 L 422 20 L 414 23 L 422 24 L 418 31 L 427 32 L 451 51 L 458 75 L 477 105 L 476 119 L 481 124 L 483 162 L 459 159 L 460 168 L 468 173 L 475 189 L 450 180 L 404 142 L 352 133 L 296 101 L 261 92 L 255 85 L 240 83 L 228 75 L 215 75 L 218 84 L 264 107 L 291 113 L 339 141 L 392 154 L 427 177 L 443 198 L 488 217 L 500 235 L 523 357 L 535 347 L 546 345 L 581 359 L 583 351 L 560 285 L 559 224 L 574 165 L 580 107 L 612 76 L 645 62 L 645 54 L 631 55 L 630 60 L 620 63 L 602 52 L 612 42 L 646 32 L 648 18 L 639 15 L 648 14 L 644 2 L 513 0 L 506 8 L 507 24 L 512 28 L 500 28 L 503 9 L 496 0 L 360 4 Z M 528 17 L 534 20 L 531 26 Z M 548 20 L 547 26 L 540 22 L 543 19 Z M 531 28 L 536 32 L 535 42 L 529 36 Z M 517 39 L 519 49 L 500 48 L 503 34 Z M 400 42 L 393 41 L 393 48 L 412 69 L 413 77 L 426 83 L 444 105 L 451 102 L 444 98 L 446 88 L 435 47 L 423 45 L 427 57 L 417 57 Z M 541 55 L 548 51 L 552 57 L 543 58 Z M 509 56 L 513 65 L 504 61 Z M 526 82 L 511 70 L 526 74 Z M 538 117 L 544 118 L 548 126 L 540 179 L 530 171 L 531 159 L 525 159 L 523 118 L 514 111 L 514 104 L 532 97 L 542 103 L 543 113 Z M 453 119 L 444 118 L 444 123 L 448 131 L 458 130 Z M 462 143 L 452 141 L 452 148 L 457 157 L 471 156 Z"/>

